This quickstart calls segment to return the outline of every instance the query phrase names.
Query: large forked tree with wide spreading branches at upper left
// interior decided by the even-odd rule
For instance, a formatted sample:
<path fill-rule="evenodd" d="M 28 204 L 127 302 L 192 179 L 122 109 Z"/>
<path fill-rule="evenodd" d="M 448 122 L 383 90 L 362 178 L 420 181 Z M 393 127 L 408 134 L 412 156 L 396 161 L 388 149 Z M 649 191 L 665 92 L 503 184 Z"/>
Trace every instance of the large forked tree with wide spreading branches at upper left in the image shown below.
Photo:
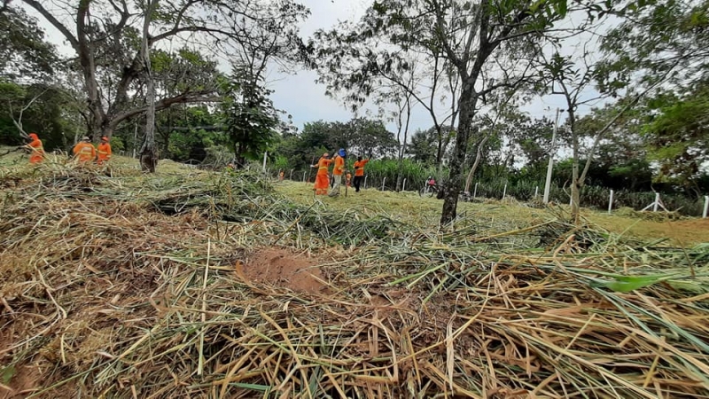
<path fill-rule="evenodd" d="M 127 0 L 81 0 L 78 6 L 66 4 L 59 10 L 50 10 L 37 0 L 22 1 L 56 27 L 74 49 L 90 110 L 92 136 L 110 137 L 121 121 L 147 111 L 147 104 L 129 105 L 136 80 L 146 66 L 143 51 L 138 46 L 129 48 L 125 62 L 113 65 L 120 72 L 110 80 L 109 87 L 101 87 L 105 69 L 101 57 L 105 54 L 98 52 L 105 43 L 123 40 L 131 30 L 130 22 L 136 14 L 141 14 L 140 11 L 133 10 Z M 303 6 L 290 0 L 279 4 L 163 0 L 150 18 L 151 35 L 147 37 L 147 47 L 171 40 L 180 42 L 188 37 L 201 41 L 214 51 L 235 51 L 234 43 L 252 40 L 250 32 L 244 29 L 247 22 L 268 29 L 277 27 L 283 20 L 300 19 L 307 13 Z M 73 18 L 65 21 L 58 15 Z M 216 89 L 216 85 L 198 90 L 189 88 L 170 97 L 156 98 L 152 106 L 160 110 L 175 104 L 213 102 L 219 100 Z"/>

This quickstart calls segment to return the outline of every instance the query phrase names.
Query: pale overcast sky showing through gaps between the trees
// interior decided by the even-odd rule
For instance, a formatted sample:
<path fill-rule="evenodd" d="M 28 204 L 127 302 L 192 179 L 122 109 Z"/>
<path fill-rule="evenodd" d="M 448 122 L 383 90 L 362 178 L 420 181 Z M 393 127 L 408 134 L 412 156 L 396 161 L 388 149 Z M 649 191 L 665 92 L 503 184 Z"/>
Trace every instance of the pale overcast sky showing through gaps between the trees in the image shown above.
<path fill-rule="evenodd" d="M 359 20 L 371 0 L 300 0 L 310 9 L 311 15 L 300 26 L 301 35 L 307 40 L 317 29 L 334 27 L 339 21 Z M 48 40 L 58 45 L 59 51 L 70 56 L 74 51 L 62 40 L 62 35 L 51 27 L 43 18 L 33 10 L 25 7 L 27 12 L 35 15 L 40 20 L 40 26 L 48 34 Z M 227 66 L 224 67 L 228 70 Z M 279 74 L 271 71 L 268 77 L 269 89 L 274 90 L 271 98 L 277 109 L 284 110 L 292 115 L 296 128 L 303 129 L 303 125 L 311 121 L 349 121 L 355 115 L 347 110 L 337 98 L 325 96 L 325 86 L 316 83 L 316 72 L 308 70 L 296 71 L 294 74 Z M 534 118 L 543 116 L 554 118 L 556 108 L 565 108 L 562 96 L 547 96 L 537 98 L 532 103 L 523 106 L 523 110 Z M 580 110 L 580 113 L 584 113 Z M 362 115 L 359 115 L 362 116 Z M 562 121 L 564 115 L 562 115 Z M 414 108 L 410 127 L 410 134 L 417 129 L 428 129 L 432 126 L 429 113 L 423 108 Z M 393 122 L 386 123 L 387 129 L 396 131 Z"/>

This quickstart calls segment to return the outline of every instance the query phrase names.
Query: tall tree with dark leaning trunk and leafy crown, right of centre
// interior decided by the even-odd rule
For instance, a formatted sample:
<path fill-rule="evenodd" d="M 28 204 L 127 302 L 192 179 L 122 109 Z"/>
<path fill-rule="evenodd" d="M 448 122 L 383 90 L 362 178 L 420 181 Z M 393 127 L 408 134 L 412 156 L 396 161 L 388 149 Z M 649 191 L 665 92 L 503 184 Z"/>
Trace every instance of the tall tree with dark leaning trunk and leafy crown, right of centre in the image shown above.
<path fill-rule="evenodd" d="M 471 121 L 478 111 L 479 99 L 526 79 L 530 56 L 534 55 L 527 40 L 539 38 L 566 11 L 565 0 L 383 0 L 366 12 L 363 21 L 367 29 L 360 35 L 386 37 L 395 46 L 393 53 L 418 53 L 428 60 L 438 54 L 442 65 L 448 66 L 446 70 L 460 82 L 460 90 L 450 93 L 456 96 L 458 106 L 456 144 L 444 186 L 441 226 L 456 217 Z M 370 59 L 366 54 L 362 55 Z M 380 68 L 378 63 L 376 67 Z M 383 67 L 397 72 L 408 63 L 398 66 L 395 59 L 386 59 Z M 357 74 L 352 79 L 361 80 Z M 368 96 L 369 92 L 364 90 L 357 95 Z"/>

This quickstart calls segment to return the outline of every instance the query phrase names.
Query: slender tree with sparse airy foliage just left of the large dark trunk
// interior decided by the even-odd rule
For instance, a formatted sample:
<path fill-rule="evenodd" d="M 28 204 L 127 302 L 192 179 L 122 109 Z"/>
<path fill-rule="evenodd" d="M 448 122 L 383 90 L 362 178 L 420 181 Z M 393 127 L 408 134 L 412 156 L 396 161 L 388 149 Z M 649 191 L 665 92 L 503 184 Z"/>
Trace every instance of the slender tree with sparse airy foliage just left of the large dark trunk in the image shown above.
<path fill-rule="evenodd" d="M 344 92 L 346 103 L 354 109 L 370 97 L 375 98 L 380 112 L 391 98 L 406 98 L 409 110 L 423 107 L 436 133 L 434 163 L 440 175 L 446 149 L 454 137 L 450 133 L 455 133 L 460 81 L 437 43 L 418 43 L 424 48 L 425 57 L 416 51 L 396 50 L 408 49 L 409 41 L 419 34 L 425 37 L 423 31 L 431 28 L 433 20 L 420 16 L 406 27 L 383 22 L 386 16 L 378 11 L 386 7 L 384 3 L 376 3 L 358 24 L 343 23 L 330 32 L 316 32 L 316 42 L 311 44 L 317 48 L 314 59 L 318 81 L 327 84 L 328 94 Z M 406 103 L 397 105 L 400 114 L 401 104 Z M 447 106 L 449 113 L 442 112 L 440 104 Z"/>

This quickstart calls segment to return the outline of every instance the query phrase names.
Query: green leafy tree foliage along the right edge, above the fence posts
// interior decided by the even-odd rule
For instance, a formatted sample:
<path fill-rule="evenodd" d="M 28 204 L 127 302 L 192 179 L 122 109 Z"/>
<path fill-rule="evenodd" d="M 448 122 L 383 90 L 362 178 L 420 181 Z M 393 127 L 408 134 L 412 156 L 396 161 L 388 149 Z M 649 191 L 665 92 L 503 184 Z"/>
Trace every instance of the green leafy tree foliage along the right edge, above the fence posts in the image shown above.
<path fill-rule="evenodd" d="M 603 41 L 604 74 L 661 90 L 647 102 L 643 129 L 649 157 L 660 162 L 658 179 L 694 186 L 705 160 L 706 87 L 709 82 L 709 1 L 660 0 L 628 4 L 630 17 Z M 654 114 L 653 114 L 654 113 Z M 691 190 L 691 189 L 690 189 Z"/>

